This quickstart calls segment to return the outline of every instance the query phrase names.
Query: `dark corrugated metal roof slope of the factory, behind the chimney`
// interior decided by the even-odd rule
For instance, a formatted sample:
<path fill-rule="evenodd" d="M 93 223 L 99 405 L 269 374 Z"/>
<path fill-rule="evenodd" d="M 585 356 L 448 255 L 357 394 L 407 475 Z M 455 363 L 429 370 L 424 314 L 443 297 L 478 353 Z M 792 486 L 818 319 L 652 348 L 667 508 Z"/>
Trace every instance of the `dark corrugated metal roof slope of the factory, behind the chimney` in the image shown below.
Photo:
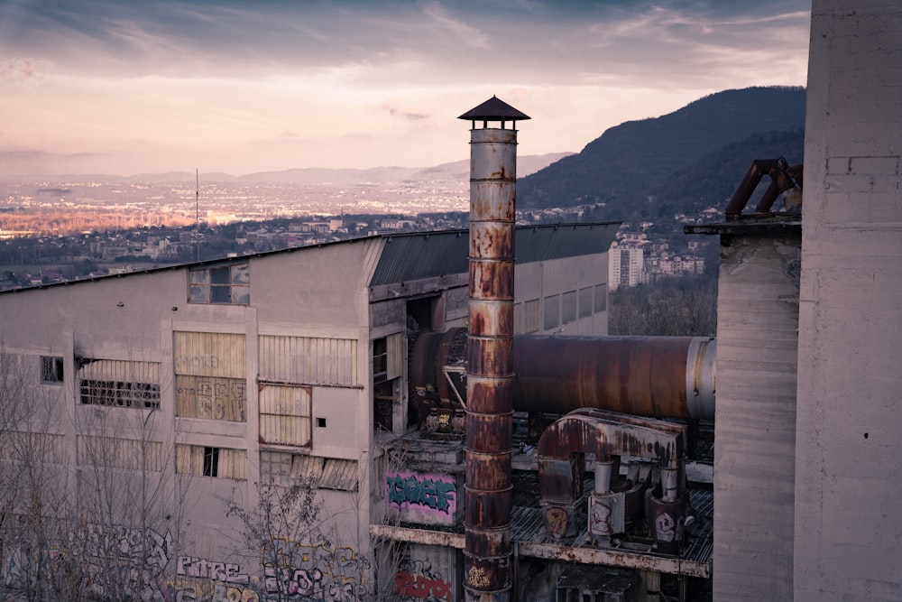
<path fill-rule="evenodd" d="M 602 222 L 517 227 L 515 261 L 531 264 L 605 253 L 619 226 L 619 222 Z M 468 270 L 467 230 L 389 236 L 385 243 L 370 286 L 466 273 Z"/>

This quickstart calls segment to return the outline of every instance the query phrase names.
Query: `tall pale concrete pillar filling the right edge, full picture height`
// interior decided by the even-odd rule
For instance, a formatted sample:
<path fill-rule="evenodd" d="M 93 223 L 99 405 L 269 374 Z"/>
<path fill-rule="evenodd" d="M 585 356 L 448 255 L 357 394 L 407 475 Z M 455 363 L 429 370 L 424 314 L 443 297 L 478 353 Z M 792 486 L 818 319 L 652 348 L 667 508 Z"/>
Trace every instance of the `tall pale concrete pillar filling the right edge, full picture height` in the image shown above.
<path fill-rule="evenodd" d="M 795 594 L 898 600 L 902 5 L 815 0 L 807 102 Z"/>

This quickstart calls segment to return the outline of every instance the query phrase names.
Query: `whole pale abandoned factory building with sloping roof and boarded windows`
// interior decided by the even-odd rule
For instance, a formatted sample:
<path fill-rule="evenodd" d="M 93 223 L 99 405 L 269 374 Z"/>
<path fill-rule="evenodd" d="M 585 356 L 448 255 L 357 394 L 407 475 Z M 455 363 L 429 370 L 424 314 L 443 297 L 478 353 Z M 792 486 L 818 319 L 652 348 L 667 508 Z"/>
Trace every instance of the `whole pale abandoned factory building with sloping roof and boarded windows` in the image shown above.
<path fill-rule="evenodd" d="M 517 232 L 519 330 L 606 331 L 616 227 Z M 0 431 L 39 438 L 53 475 L 42 493 L 58 518 L 144 557 L 134 595 L 363 599 L 376 572 L 370 526 L 388 505 L 373 481 L 390 459 L 380 433 L 406 432 L 416 402 L 408 332 L 465 325 L 467 285 L 467 233 L 446 231 L 3 292 L 4 382 L 23 384 L 3 388 L 3 405 L 41 412 L 3 412 Z M 25 461 L 12 448 L 0 451 L 7 477 Z M 243 525 L 226 500 L 253 508 L 257 484 L 298 475 L 317 483 L 328 542 L 283 542 L 295 552 L 268 568 L 259 549 L 239 544 Z M 8 485 L 0 480 L 5 503 L 27 515 Z M 109 506 L 104 492 L 115 494 Z M 52 545 L 75 554 L 65 538 Z M 94 583 L 124 561 L 84 554 Z M 2 558 L 2 582 L 22 587 L 23 567 L 37 560 L 13 547 Z"/>

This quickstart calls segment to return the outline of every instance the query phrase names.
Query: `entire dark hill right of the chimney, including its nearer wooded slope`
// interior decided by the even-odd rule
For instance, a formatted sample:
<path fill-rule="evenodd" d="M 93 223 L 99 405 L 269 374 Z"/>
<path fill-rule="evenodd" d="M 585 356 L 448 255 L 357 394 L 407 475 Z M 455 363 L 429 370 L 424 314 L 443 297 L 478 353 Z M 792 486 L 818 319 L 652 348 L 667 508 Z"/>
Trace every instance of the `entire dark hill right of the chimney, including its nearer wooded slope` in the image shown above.
<path fill-rule="evenodd" d="M 665 116 L 612 127 L 580 153 L 521 178 L 517 203 L 520 208 L 605 203 L 594 218 L 606 219 L 653 217 L 662 201 L 689 212 L 699 196 L 716 206 L 724 187 L 730 188 L 729 197 L 752 160 L 775 158 L 773 145 L 786 147 L 783 154 L 792 155 L 787 161 L 800 162 L 797 143 L 804 126 L 805 88 L 726 90 Z M 778 134 L 787 131 L 796 134 Z M 727 154 L 731 164 L 741 166 L 738 176 L 728 168 Z M 650 201 L 653 207 L 649 196 L 658 199 Z"/>

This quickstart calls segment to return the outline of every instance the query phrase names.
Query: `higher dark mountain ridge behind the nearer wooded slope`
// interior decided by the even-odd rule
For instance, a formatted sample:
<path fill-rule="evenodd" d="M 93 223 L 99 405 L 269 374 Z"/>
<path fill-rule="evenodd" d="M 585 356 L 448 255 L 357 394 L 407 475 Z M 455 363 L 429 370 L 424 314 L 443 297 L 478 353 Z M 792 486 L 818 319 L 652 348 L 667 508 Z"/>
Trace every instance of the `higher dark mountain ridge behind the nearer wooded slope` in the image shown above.
<path fill-rule="evenodd" d="M 705 155 L 804 126 L 805 88 L 724 90 L 665 116 L 613 126 L 579 153 L 520 179 L 517 201 L 524 209 L 603 203 L 604 218 L 625 218 L 631 205 Z"/>

